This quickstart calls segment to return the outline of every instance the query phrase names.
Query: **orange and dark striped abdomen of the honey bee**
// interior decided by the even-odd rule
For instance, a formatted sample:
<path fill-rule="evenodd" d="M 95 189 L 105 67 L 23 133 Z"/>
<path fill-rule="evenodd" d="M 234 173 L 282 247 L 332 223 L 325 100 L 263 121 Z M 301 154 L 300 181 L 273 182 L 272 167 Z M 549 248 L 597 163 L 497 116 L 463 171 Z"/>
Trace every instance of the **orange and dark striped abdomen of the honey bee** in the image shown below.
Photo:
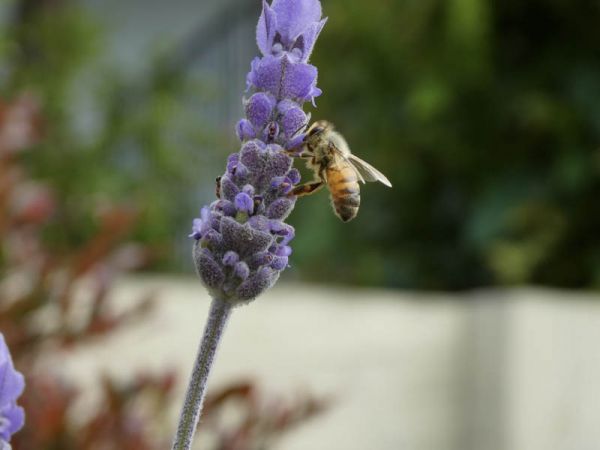
<path fill-rule="evenodd" d="M 358 214 L 360 187 L 356 171 L 349 164 L 327 168 L 327 184 L 336 215 L 348 222 Z"/>

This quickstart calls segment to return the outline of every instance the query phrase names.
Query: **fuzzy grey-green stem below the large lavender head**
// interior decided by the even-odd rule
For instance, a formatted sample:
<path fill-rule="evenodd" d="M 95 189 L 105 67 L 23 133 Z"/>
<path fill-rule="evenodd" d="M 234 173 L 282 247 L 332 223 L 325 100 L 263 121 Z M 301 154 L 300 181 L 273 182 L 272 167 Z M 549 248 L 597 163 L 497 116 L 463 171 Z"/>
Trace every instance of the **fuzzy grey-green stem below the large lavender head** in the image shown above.
<path fill-rule="evenodd" d="M 229 303 L 217 298 L 213 299 L 204 328 L 204 336 L 185 394 L 185 402 L 179 416 L 179 425 L 173 447 L 171 447 L 172 450 L 190 450 L 192 448 L 194 433 L 204 401 L 206 381 L 230 312 L 231 305 Z"/>

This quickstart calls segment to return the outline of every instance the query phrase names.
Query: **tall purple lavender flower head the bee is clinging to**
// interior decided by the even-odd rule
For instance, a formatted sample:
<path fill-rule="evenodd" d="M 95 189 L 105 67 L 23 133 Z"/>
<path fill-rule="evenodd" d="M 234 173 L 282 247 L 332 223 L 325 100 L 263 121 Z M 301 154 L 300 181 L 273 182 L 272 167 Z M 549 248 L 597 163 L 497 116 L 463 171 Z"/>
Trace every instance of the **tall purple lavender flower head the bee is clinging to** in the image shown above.
<path fill-rule="evenodd" d="M 321 94 L 308 59 L 325 22 L 318 0 L 263 2 L 262 57 L 251 63 L 246 117 L 236 126 L 242 147 L 227 159 L 219 199 L 202 208 L 190 234 L 197 272 L 215 298 L 250 301 L 288 266 L 294 228 L 284 221 L 300 173 L 285 149 L 308 124 L 302 105 Z"/>

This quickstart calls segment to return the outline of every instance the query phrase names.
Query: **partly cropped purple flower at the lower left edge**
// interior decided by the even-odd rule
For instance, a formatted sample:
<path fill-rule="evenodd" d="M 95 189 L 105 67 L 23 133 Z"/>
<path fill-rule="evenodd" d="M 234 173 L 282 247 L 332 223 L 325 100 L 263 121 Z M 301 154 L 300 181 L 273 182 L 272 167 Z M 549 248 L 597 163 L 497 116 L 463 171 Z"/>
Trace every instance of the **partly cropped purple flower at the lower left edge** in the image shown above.
<path fill-rule="evenodd" d="M 15 370 L 4 336 L 0 333 L 0 450 L 10 450 L 10 438 L 25 423 L 17 398 L 25 388 L 23 375 Z"/>

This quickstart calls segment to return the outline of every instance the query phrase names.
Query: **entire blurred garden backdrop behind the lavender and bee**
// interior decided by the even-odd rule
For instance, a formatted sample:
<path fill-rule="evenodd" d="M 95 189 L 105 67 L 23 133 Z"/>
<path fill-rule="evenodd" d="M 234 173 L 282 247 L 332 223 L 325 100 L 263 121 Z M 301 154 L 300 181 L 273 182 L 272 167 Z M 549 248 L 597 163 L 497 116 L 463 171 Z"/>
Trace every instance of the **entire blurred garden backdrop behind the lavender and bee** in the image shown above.
<path fill-rule="evenodd" d="M 298 202 L 199 448 L 596 449 L 600 4 L 322 3 L 308 109 L 394 187 L 349 224 Z M 165 448 L 208 302 L 187 235 L 260 8 L 0 2 L 0 330 L 47 406 L 15 450 Z"/>

